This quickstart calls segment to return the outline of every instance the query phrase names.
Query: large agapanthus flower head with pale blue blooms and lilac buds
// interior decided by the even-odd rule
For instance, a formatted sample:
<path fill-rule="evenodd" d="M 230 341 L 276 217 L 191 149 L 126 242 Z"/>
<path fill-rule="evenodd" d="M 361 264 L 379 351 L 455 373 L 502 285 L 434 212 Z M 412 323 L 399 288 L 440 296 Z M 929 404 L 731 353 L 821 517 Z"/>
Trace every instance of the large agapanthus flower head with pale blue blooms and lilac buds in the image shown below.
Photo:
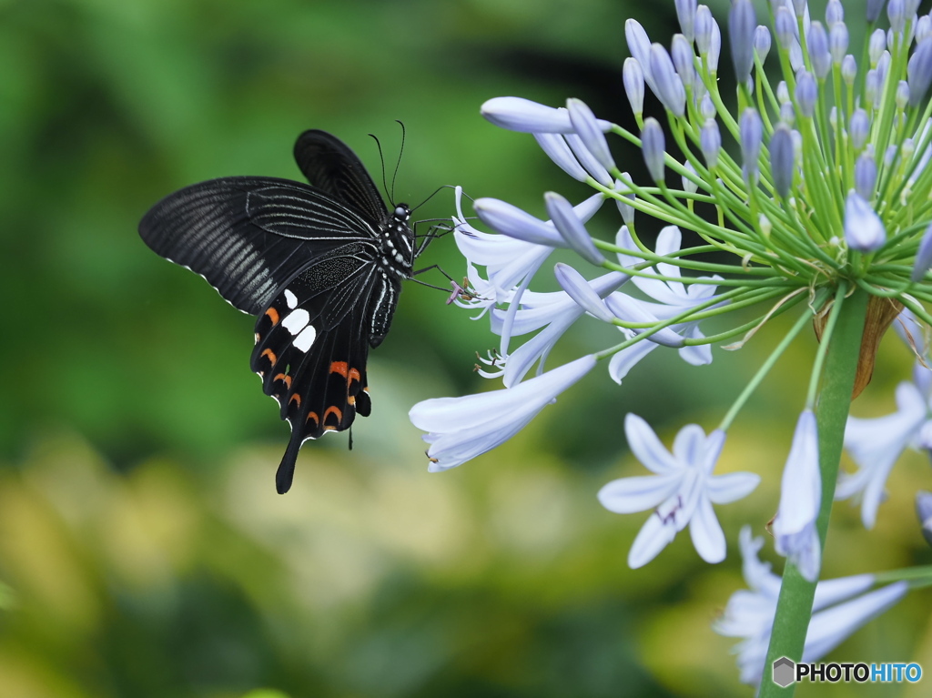
<path fill-rule="evenodd" d="M 651 42 L 628 20 L 631 57 L 622 78 L 637 133 L 598 118 L 578 99 L 565 107 L 519 97 L 485 103 L 483 116 L 532 134 L 555 165 L 593 193 L 570 201 L 547 192 L 541 216 L 478 198 L 476 223 L 464 214 L 458 191 L 454 235 L 469 284 L 456 303 L 489 318 L 499 335 L 481 374 L 501 378 L 503 387 L 412 409 L 414 424 L 429 432 L 430 469 L 459 466 L 502 444 L 603 360 L 618 383 L 653 349 L 677 349 L 687 363 L 709 363 L 713 346 L 740 349 L 774 317 L 789 314 L 788 334 L 708 434 L 686 426 L 668 451 L 643 419 L 625 417 L 628 444 L 653 474 L 616 480 L 599 500 L 612 512 L 651 511 L 630 551 L 632 568 L 648 563 L 685 527 L 700 556 L 720 561 L 726 543 L 713 504 L 746 496 L 760 480 L 749 472 L 715 474 L 726 434 L 789 344 L 815 327 L 821 344 L 770 522 L 777 553 L 815 583 L 822 495 L 835 483 L 820 468 L 824 434 L 816 413 L 842 308 L 854 296 L 869 297 L 856 396 L 870 380 L 881 336 L 903 308 L 911 312 L 911 346 L 920 356 L 919 328 L 932 324 L 924 307 L 932 301 L 932 170 L 926 167 L 932 19 L 918 17 L 918 5 L 890 0 L 889 28 L 882 29 L 876 25 L 884 3 L 870 2 L 860 48 L 849 47 L 839 0 L 829 1 L 824 21 L 811 18 L 805 0 L 773 0 L 764 23 L 751 0 L 733 0 L 727 33 L 708 7 L 676 0 L 681 33 L 668 46 Z M 733 94 L 720 91 L 723 37 L 731 49 Z M 645 115 L 647 89 L 663 114 Z M 621 171 L 610 138 L 640 149 L 650 181 Z M 619 216 L 611 239 L 587 226 L 607 204 Z M 651 244 L 638 232 L 636 219 L 643 216 L 665 225 Z M 683 231 L 701 241 L 684 246 Z M 577 262 L 548 264 L 557 248 L 575 253 Z M 716 254 L 710 259 L 710 253 Z M 562 291 L 532 290 L 544 274 L 553 274 Z M 749 321 L 748 308 L 756 310 Z M 701 329 L 712 318 L 727 327 L 733 317 L 740 319 L 715 334 Z M 576 322 L 609 324 L 617 341 L 548 367 L 555 343 Z M 846 444 L 860 470 L 843 476 L 838 495 L 861 497 L 869 527 L 899 451 L 932 449 L 926 374 L 900 387 L 897 415 L 882 423 L 850 422 Z M 932 520 L 932 505 L 920 511 L 926 510 Z"/>

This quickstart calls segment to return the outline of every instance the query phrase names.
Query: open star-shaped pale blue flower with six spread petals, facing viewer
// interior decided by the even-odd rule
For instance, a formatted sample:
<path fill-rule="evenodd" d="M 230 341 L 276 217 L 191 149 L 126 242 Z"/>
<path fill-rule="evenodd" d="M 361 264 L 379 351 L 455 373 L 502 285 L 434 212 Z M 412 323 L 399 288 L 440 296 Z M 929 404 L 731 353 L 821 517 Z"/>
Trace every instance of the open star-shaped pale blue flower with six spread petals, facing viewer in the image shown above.
<path fill-rule="evenodd" d="M 753 472 L 712 474 L 725 432 L 706 436 L 699 425 L 687 425 L 677 434 L 672 453 L 637 415 L 624 417 L 624 433 L 632 453 L 655 473 L 614 480 L 598 492 L 598 500 L 610 512 L 654 510 L 631 546 L 628 566 L 640 568 L 649 563 L 687 525 L 700 557 L 709 563 L 725 559 L 725 536 L 712 504 L 747 497 L 761 482 Z"/>

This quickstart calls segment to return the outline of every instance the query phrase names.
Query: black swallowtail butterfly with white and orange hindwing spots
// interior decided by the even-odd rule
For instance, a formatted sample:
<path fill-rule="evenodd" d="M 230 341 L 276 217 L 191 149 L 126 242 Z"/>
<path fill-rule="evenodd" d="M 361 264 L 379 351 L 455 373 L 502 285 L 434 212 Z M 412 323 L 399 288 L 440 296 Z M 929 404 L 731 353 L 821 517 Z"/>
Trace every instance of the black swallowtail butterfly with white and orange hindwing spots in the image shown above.
<path fill-rule="evenodd" d="M 372 409 L 365 362 L 389 331 L 416 248 L 401 203 L 387 211 L 363 163 L 322 130 L 295 143 L 310 186 L 224 177 L 163 198 L 139 224 L 152 250 L 257 315 L 252 368 L 292 428 L 275 485 L 301 445 Z"/>

